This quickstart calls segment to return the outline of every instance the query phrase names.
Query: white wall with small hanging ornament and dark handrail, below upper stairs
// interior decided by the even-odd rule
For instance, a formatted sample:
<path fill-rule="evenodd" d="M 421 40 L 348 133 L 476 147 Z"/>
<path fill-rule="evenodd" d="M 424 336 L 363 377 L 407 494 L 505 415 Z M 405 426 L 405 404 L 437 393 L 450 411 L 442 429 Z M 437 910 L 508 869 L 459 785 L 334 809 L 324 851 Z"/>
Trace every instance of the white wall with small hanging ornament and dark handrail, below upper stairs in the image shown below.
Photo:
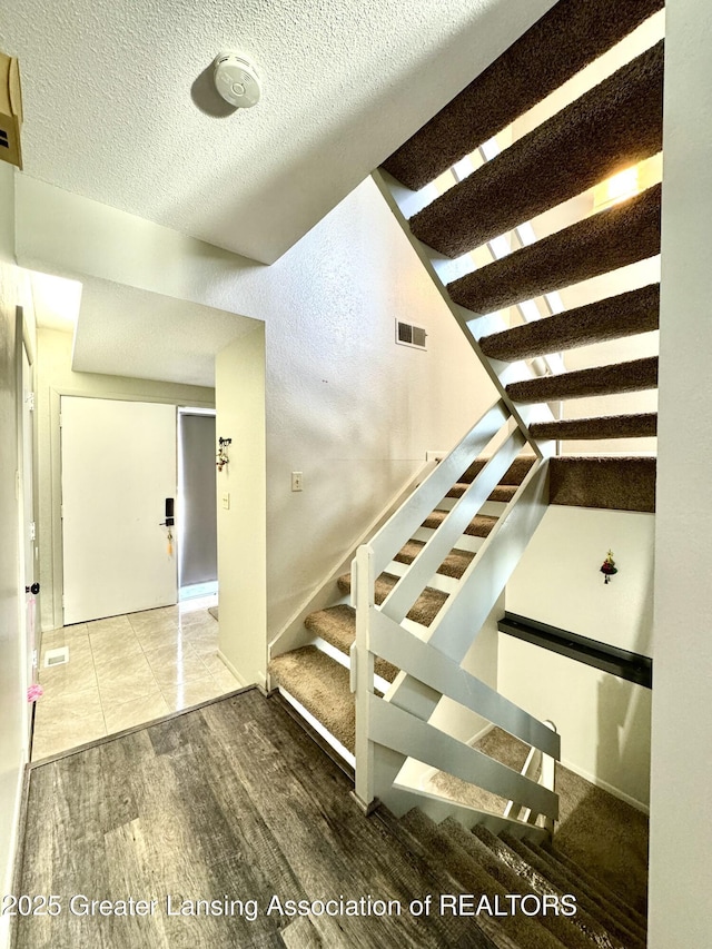
<path fill-rule="evenodd" d="M 506 589 L 506 609 L 653 655 L 655 517 L 552 505 Z M 619 573 L 600 572 L 613 550 Z M 562 735 L 562 761 L 624 800 L 650 801 L 651 692 L 500 634 L 498 689 Z"/>

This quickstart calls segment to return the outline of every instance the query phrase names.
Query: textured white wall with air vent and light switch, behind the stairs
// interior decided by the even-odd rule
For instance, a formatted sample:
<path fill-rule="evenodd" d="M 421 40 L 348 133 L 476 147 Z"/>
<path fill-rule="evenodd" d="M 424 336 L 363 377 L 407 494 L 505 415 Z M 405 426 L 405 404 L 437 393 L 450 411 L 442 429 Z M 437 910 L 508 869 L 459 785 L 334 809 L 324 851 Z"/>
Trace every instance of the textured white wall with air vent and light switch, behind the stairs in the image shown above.
<path fill-rule="evenodd" d="M 370 180 L 271 267 L 23 177 L 19 259 L 265 323 L 269 636 L 495 394 Z M 428 352 L 394 343 L 425 326 Z M 291 471 L 304 491 L 290 491 Z"/>

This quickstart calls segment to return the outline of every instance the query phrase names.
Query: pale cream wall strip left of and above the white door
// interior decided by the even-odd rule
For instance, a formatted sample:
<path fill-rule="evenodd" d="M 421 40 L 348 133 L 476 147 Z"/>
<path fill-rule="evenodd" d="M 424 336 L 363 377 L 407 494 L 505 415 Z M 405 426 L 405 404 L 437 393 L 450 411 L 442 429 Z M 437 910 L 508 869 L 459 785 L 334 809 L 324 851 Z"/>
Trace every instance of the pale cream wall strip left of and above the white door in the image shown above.
<path fill-rule="evenodd" d="M 40 552 L 40 609 L 42 630 L 61 625 L 62 537 L 59 406 L 61 395 L 165 402 L 172 405 L 212 406 L 215 392 L 198 386 L 157 383 L 122 376 L 75 373 L 71 333 L 40 329 L 37 334 L 36 416 L 38 427 L 37 506 Z M 90 463 L 90 462 L 89 462 Z"/>

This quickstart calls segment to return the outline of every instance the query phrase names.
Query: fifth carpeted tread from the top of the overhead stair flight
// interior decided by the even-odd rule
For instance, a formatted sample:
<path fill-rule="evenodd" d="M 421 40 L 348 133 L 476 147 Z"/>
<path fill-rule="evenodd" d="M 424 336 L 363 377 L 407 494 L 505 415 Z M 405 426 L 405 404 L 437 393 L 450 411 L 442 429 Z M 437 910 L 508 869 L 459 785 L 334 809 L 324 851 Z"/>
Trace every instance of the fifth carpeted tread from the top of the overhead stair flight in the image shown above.
<path fill-rule="evenodd" d="M 594 366 L 555 376 L 540 376 L 511 383 L 506 387 L 513 402 L 558 402 L 567 398 L 642 392 L 657 386 L 657 356 Z"/>

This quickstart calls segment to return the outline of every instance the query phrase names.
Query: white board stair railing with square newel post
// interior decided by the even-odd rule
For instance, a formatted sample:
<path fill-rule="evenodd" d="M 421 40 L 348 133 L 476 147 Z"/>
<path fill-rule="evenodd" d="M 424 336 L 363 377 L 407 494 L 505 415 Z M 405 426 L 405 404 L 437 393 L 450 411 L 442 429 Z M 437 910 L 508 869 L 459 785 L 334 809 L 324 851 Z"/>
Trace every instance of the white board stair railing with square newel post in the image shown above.
<path fill-rule="evenodd" d="M 366 809 L 380 800 L 397 814 L 418 804 L 436 818 L 458 811 L 461 819 L 464 817 L 471 823 L 484 820 L 494 830 L 523 827 L 536 836 L 545 834 L 556 819 L 557 799 L 553 788 L 494 761 L 431 724 L 429 719 L 443 696 L 447 696 L 532 744 L 551 760 L 558 758 L 560 740 L 555 732 L 462 668 L 544 514 L 548 501 L 547 461 L 541 449 L 536 449 L 528 474 L 434 622 L 425 627 L 406 619 L 439 564 L 461 545 L 472 518 L 525 444 L 521 429 L 512 433 L 510 427 L 510 414 L 500 401 L 370 543 L 358 548 L 352 569 L 352 597 L 356 606 L 356 642 L 352 650 L 352 688 L 356 692 L 356 797 Z M 380 606 L 376 605 L 377 576 L 485 448 L 491 455 L 487 463 L 397 579 Z M 383 696 L 374 688 L 376 656 L 402 670 Z M 505 800 L 521 802 L 520 810 L 527 809 L 527 819 L 522 821 L 507 815 L 497 822 L 491 813 L 447 803 L 445 798 L 407 787 L 399 779 L 399 772 L 408 759 L 477 784 Z M 534 821 L 528 814 L 535 815 Z M 540 814 L 545 827 L 530 827 Z"/>

